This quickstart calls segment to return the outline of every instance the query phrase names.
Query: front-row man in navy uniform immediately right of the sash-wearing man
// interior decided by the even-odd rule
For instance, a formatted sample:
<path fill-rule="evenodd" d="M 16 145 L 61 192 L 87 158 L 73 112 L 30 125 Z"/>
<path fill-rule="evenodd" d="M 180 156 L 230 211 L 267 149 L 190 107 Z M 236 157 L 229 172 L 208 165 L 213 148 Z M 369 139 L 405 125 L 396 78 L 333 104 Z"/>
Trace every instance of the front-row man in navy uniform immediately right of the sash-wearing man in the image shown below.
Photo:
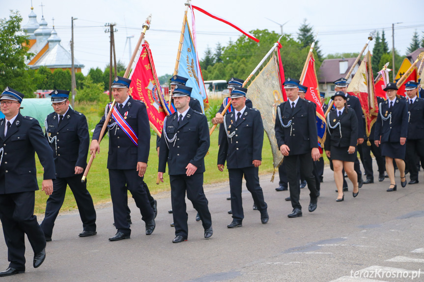
<path fill-rule="evenodd" d="M 192 88 L 175 85 L 173 92 L 176 112 L 167 116 L 159 149 L 158 177 L 168 162 L 171 185 L 172 216 L 175 238 L 172 243 L 187 241 L 188 225 L 185 195 L 198 211 L 204 229 L 204 237 L 213 234 L 208 201 L 203 192 L 204 157 L 209 149 L 209 128 L 206 116 L 189 106 Z"/>

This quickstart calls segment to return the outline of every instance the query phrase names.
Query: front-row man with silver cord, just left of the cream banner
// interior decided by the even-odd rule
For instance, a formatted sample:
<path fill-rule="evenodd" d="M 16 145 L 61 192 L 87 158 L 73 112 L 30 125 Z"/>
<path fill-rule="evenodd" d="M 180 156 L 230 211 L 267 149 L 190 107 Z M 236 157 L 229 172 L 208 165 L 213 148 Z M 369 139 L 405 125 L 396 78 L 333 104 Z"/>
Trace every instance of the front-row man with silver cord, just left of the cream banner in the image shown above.
<path fill-rule="evenodd" d="M 260 112 L 246 106 L 247 89 L 235 86 L 231 91 L 233 112 L 226 114 L 224 134 L 218 151 L 218 169 L 223 171 L 227 163 L 231 193 L 232 222 L 228 228 L 242 226 L 244 218 L 242 205 L 242 179 L 252 193 L 254 203 L 260 211 L 263 224 L 268 223 L 268 206 L 259 185 L 259 166 L 262 161 L 263 124 Z"/>

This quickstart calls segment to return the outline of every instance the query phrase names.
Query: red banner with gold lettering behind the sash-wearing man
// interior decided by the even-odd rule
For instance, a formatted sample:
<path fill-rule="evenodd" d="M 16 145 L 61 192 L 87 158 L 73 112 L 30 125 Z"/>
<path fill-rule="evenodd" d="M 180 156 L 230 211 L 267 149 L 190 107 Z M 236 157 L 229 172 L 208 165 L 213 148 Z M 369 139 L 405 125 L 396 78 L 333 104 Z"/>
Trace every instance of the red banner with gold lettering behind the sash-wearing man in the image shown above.
<path fill-rule="evenodd" d="M 141 46 L 142 49 L 136 62 L 136 67 L 129 76 L 131 79 L 130 95 L 135 100 L 144 102 L 147 108 L 147 115 L 149 116 L 150 127 L 161 136 L 164 119 L 169 112 L 162 106 L 166 102 L 164 101 L 159 79 L 156 75 L 149 44 L 144 42 Z"/>

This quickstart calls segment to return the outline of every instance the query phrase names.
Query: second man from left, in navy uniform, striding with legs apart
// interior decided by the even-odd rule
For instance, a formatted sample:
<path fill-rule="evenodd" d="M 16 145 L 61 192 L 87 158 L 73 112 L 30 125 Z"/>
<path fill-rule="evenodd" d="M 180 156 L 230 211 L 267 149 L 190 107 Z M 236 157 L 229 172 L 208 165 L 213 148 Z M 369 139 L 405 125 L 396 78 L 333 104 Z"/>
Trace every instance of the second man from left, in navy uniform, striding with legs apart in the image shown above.
<path fill-rule="evenodd" d="M 41 229 L 44 231 L 46 241 L 52 241 L 55 220 L 65 199 L 66 186 L 69 185 L 83 222 L 83 232 L 79 236 L 93 236 L 97 234 L 96 211 L 86 182 L 81 182 L 82 173 L 87 165 L 89 146 L 87 120 L 82 113 L 69 107 L 69 91 L 55 90 L 49 95 L 52 96 L 55 111 L 46 118 L 45 136 L 53 151 L 56 179 L 53 181 L 53 193 L 47 199 Z"/>

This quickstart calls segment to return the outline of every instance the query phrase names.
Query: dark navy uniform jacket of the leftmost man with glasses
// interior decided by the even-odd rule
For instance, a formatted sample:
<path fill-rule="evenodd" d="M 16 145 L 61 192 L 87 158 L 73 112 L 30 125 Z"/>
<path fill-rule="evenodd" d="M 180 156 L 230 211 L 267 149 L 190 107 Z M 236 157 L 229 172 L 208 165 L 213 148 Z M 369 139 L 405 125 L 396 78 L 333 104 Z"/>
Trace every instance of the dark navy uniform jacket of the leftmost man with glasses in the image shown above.
<path fill-rule="evenodd" d="M 38 121 L 20 113 L 4 136 L 6 121 L 0 119 L 0 194 L 38 190 L 35 152 L 44 168 L 44 179 L 56 179 L 55 162 Z"/>

